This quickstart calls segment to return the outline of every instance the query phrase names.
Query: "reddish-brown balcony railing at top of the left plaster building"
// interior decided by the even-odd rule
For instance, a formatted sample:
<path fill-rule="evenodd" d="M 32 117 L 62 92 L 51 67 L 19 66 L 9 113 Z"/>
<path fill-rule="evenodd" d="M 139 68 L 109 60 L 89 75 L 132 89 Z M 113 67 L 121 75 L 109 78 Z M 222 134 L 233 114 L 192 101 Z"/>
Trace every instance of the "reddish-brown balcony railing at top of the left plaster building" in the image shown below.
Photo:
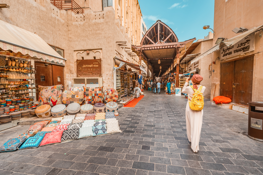
<path fill-rule="evenodd" d="M 84 17 L 83 8 L 81 8 L 75 1 L 73 0 L 50 0 L 50 3 L 53 4 L 60 10 L 71 10 L 75 14 L 82 14 Z"/>

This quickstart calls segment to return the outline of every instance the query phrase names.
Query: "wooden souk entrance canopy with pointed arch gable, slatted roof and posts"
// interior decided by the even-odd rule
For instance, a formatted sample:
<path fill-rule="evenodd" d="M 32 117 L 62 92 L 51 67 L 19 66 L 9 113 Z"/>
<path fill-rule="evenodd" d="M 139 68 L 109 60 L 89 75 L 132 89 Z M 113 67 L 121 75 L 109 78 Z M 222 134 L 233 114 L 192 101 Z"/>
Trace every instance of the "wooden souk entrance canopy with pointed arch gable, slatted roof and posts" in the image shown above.
<path fill-rule="evenodd" d="M 157 20 L 154 25 L 145 33 L 139 46 L 132 46 L 133 52 L 139 55 L 141 60 L 147 62 L 147 73 L 149 78 L 149 68 L 152 76 L 161 76 L 166 71 L 174 72 L 176 65 L 176 87 L 179 87 L 179 63 L 181 57 L 196 38 L 178 42 L 174 31 L 161 20 Z"/>

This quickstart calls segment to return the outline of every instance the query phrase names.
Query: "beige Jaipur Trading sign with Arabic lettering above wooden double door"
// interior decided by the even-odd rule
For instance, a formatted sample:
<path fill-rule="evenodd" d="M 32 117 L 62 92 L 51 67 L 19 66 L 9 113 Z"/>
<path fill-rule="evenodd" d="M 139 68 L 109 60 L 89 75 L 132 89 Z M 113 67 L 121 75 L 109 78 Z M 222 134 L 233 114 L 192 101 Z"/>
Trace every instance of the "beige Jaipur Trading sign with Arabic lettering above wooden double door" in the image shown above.
<path fill-rule="evenodd" d="M 230 47 L 222 47 L 220 50 L 220 58 L 227 59 L 228 57 L 240 55 L 244 52 L 250 52 L 252 50 L 254 50 L 254 34 L 241 39 L 239 42 Z"/>

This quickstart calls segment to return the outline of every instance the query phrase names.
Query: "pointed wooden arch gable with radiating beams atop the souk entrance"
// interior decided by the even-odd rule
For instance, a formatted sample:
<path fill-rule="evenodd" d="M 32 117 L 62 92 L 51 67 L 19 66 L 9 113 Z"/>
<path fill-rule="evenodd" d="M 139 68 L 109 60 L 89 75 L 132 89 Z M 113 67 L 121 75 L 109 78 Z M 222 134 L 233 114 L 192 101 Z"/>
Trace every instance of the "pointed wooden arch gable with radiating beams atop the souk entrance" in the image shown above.
<path fill-rule="evenodd" d="M 161 20 L 157 20 L 154 25 L 143 36 L 140 45 L 176 43 L 178 38 L 174 31 Z"/>

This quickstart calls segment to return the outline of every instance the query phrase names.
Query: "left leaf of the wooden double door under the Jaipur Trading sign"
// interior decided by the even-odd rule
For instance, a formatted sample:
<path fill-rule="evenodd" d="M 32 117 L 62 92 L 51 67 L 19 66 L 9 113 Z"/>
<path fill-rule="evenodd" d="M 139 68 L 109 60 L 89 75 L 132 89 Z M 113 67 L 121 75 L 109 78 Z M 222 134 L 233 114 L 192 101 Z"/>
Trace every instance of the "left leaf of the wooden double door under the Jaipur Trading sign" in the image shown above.
<path fill-rule="evenodd" d="M 220 76 L 220 96 L 228 97 L 233 102 L 233 79 L 234 79 L 234 61 L 221 64 Z"/>

